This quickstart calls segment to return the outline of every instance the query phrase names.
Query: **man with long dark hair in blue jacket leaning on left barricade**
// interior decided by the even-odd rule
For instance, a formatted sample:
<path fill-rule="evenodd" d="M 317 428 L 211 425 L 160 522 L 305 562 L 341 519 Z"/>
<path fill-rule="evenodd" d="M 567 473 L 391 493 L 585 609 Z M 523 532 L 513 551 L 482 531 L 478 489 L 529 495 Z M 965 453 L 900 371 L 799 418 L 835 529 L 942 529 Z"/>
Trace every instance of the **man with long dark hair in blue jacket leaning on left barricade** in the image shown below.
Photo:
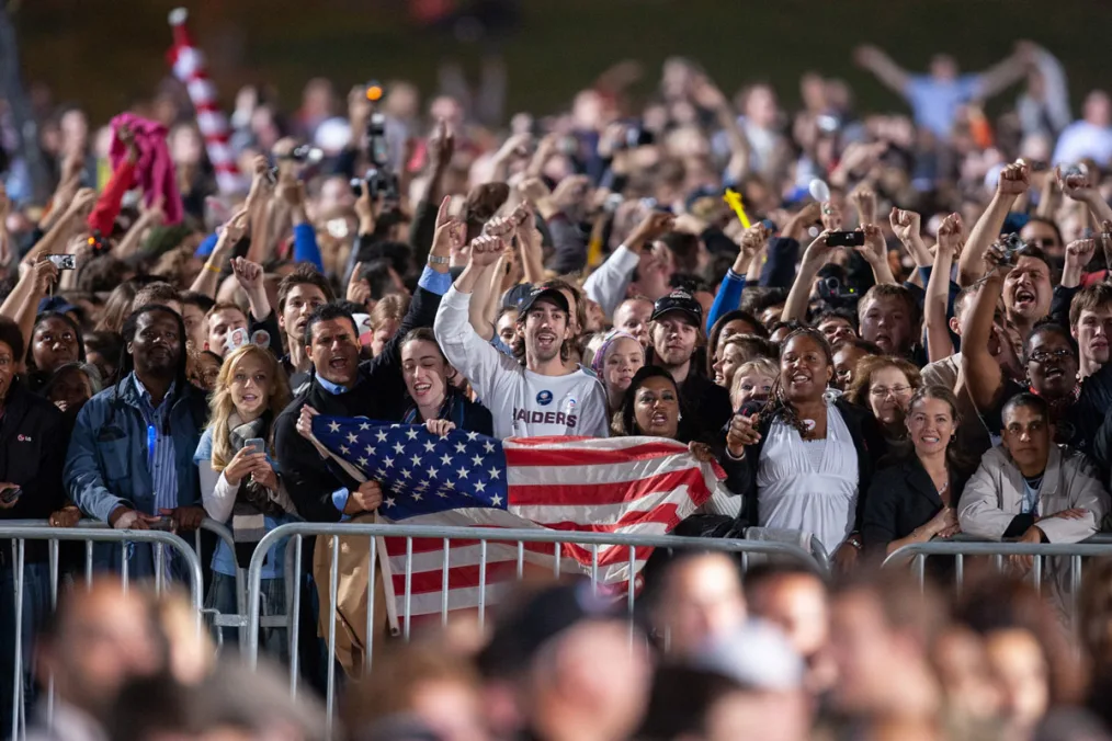
<path fill-rule="evenodd" d="M 122 336 L 123 378 L 78 414 L 66 488 L 82 512 L 113 528 L 147 530 L 170 518 L 176 530 L 196 530 L 205 509 L 192 452 L 208 404 L 186 380 L 185 322 L 150 303 L 128 317 Z M 100 551 L 118 565 L 118 548 Z M 135 561 L 149 569 L 146 558 Z"/>

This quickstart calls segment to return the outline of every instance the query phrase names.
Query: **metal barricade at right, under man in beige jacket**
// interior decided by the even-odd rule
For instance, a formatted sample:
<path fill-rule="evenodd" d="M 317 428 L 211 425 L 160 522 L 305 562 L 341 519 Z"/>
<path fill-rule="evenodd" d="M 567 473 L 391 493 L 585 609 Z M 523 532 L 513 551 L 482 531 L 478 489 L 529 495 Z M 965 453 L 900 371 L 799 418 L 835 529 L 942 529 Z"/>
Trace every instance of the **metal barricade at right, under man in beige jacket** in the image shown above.
<path fill-rule="evenodd" d="M 919 580 L 920 588 L 922 588 L 926 579 L 926 559 L 931 555 L 954 558 L 954 589 L 959 594 L 965 587 L 965 557 L 967 555 L 992 557 L 996 571 L 1003 571 L 1004 557 L 1034 557 L 1031 580 L 1035 589 L 1042 588 L 1043 572 L 1046 570 L 1043 564 L 1044 558 L 1068 558 L 1070 600 L 1065 607 L 1068 607 L 1071 618 L 1075 618 L 1078 594 L 1081 591 L 1082 559 L 1112 557 L 1112 537 L 1094 535 L 1080 543 L 1017 543 L 985 541 L 966 535 L 945 541 L 903 545 L 884 559 L 882 568 L 907 565 L 910 561 L 912 571 Z"/>

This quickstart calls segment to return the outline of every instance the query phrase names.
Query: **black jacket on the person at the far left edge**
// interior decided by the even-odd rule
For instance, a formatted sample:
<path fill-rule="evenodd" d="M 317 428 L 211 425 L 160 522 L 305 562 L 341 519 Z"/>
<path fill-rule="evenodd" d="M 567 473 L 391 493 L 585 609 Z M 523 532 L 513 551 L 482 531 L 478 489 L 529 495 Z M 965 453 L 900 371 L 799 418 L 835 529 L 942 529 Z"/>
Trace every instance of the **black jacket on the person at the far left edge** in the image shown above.
<path fill-rule="evenodd" d="M 3 520 L 46 520 L 66 499 L 62 469 L 66 465 L 66 422 L 52 403 L 14 384 L 0 419 L 0 482 L 23 490 L 11 509 L 0 510 Z M 10 558 L 11 549 L 2 554 Z M 28 561 L 47 560 L 46 541 L 27 541 Z"/>

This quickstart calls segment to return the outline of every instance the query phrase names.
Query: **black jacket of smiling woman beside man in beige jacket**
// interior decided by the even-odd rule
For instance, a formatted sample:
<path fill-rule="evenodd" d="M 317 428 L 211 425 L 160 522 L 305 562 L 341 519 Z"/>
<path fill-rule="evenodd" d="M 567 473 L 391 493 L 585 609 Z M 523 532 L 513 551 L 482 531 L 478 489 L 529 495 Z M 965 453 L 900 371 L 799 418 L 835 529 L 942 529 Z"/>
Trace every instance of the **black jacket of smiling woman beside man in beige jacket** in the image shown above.
<path fill-rule="evenodd" d="M 954 508 L 967 480 L 967 473 L 950 469 L 950 502 Z M 866 501 L 861 538 L 866 551 L 880 555 L 893 540 L 906 538 L 942 511 L 934 481 L 914 454 L 876 471 Z"/>

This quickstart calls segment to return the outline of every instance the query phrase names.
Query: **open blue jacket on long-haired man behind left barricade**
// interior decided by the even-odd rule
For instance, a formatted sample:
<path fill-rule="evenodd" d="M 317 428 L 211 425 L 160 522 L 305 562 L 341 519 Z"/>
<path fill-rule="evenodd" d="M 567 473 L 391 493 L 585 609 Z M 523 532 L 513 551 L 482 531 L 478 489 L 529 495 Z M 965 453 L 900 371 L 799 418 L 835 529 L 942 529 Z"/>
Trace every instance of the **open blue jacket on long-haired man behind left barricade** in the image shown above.
<path fill-rule="evenodd" d="M 208 404 L 203 392 L 192 384 L 178 385 L 170 411 L 178 505 L 200 505 L 193 453 L 208 418 Z M 81 409 L 62 478 L 70 499 L 97 520 L 107 522 L 120 504 L 156 514 L 153 484 L 147 469 L 147 423 L 139 412 L 133 373 L 95 395 Z"/>

